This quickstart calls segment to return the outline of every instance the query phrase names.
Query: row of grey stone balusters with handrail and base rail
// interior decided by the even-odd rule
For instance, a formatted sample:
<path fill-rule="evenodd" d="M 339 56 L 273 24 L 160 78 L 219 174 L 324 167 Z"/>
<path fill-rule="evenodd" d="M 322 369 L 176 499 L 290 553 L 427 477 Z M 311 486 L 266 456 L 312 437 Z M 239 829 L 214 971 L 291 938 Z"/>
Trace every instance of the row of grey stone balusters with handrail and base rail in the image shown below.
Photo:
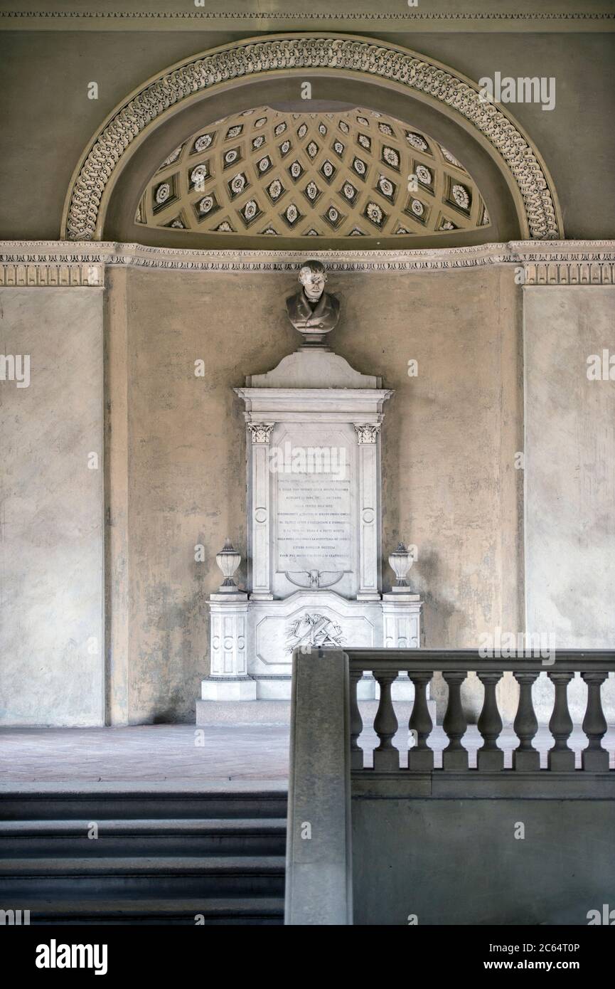
<path fill-rule="evenodd" d="M 510 672 L 519 684 L 519 702 L 513 723 L 519 744 L 512 754 L 512 769 L 517 772 L 541 768 L 540 754 L 533 745 L 538 720 L 532 700 L 532 685 L 541 673 L 546 673 L 555 687 L 555 702 L 549 730 L 554 738 L 547 769 L 574 770 L 574 752 L 569 746 L 572 719 L 568 704 L 568 685 L 574 674 L 580 674 L 587 684 L 587 704 L 582 731 L 587 745 L 581 752 L 581 770 L 606 772 L 609 754 L 602 739 L 607 722 L 602 710 L 601 687 L 609 673 L 615 671 L 615 651 L 561 650 L 549 667 L 541 659 L 514 656 L 483 659 L 478 650 L 391 650 L 348 649 L 350 682 L 350 750 L 352 770 L 364 769 L 364 752 L 358 739 L 364 725 L 357 703 L 357 683 L 365 671 L 372 671 L 380 685 L 380 703 L 374 719 L 374 731 L 379 745 L 373 753 L 373 769 L 378 772 L 420 771 L 434 768 L 434 753 L 429 747 L 433 721 L 426 700 L 426 688 L 435 673 L 441 673 L 448 686 L 448 704 L 442 727 L 448 745 L 442 753 L 442 769 L 468 769 L 468 751 L 463 738 L 468 721 L 462 704 L 462 685 L 470 673 L 476 673 L 483 683 L 483 709 L 478 728 L 483 746 L 477 754 L 479 772 L 503 770 L 504 753 L 497 745 L 502 731 L 502 719 L 497 705 L 496 686 L 505 672 Z M 414 702 L 408 721 L 410 738 L 414 741 L 407 754 L 407 769 L 400 769 L 399 750 L 393 740 L 399 727 L 391 699 L 391 688 L 397 675 L 406 671 L 414 684 Z M 370 769 L 371 771 L 371 769 Z"/>

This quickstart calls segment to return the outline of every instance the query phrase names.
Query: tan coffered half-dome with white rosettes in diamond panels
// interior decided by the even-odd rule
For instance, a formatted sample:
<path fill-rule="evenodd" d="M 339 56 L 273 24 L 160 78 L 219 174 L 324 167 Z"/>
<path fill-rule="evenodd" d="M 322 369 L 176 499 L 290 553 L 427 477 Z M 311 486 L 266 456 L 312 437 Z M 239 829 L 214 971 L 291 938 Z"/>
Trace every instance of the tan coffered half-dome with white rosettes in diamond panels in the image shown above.
<path fill-rule="evenodd" d="M 472 176 L 395 118 L 355 109 L 225 117 L 170 149 L 135 223 L 263 237 L 425 237 L 489 225 Z"/>

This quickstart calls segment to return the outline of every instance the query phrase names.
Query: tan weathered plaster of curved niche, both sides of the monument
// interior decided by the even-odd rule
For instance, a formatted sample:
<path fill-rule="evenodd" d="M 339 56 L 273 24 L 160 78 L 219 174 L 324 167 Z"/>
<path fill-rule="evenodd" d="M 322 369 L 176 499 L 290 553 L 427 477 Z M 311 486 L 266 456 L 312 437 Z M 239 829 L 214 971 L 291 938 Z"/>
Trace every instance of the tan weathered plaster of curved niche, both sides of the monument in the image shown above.
<path fill-rule="evenodd" d="M 220 584 L 215 556 L 226 535 L 245 553 L 245 427 L 232 388 L 296 349 L 284 312 L 295 286 L 276 274 L 110 275 L 118 720 L 194 715 L 207 672 L 205 598 Z M 334 348 L 395 389 L 383 443 L 384 553 L 400 538 L 418 547 L 411 576 L 426 601 L 427 644 L 477 646 L 496 625 L 522 628 L 521 316 L 510 271 L 340 274 L 330 288 L 343 313 Z M 198 359 L 204 377 L 195 376 Z"/>

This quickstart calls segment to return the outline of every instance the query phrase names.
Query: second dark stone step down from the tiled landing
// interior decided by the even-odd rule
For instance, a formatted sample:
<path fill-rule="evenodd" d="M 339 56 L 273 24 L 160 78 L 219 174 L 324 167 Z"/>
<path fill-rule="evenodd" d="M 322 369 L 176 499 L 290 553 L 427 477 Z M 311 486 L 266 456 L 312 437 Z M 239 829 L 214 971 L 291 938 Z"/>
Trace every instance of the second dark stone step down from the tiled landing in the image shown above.
<path fill-rule="evenodd" d="M 103 819 L 89 838 L 92 820 L 0 821 L 0 855 L 283 855 L 285 818 Z"/>

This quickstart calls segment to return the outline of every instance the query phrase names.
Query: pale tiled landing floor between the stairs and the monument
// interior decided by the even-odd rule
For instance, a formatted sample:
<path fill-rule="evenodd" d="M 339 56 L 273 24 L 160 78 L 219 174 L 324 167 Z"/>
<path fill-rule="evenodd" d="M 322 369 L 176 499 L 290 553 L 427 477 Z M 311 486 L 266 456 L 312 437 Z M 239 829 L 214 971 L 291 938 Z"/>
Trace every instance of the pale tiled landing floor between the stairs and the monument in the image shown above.
<path fill-rule="evenodd" d="M 407 735 L 397 733 L 395 745 L 406 748 Z M 434 729 L 430 745 L 436 766 L 447 743 L 441 728 Z M 372 731 L 361 737 L 366 764 L 376 743 Z M 470 765 L 482 739 L 471 726 L 464 744 Z M 517 745 L 511 729 L 500 736 L 505 765 L 510 765 Z M 546 765 L 553 744 L 546 728 L 540 729 L 536 748 Z M 580 729 L 571 737 L 577 752 L 586 744 Z M 615 728 L 604 740 L 615 766 Z M 9 782 L 173 782 L 206 783 L 208 780 L 286 780 L 288 777 L 288 728 L 271 726 L 195 729 L 192 725 L 143 725 L 132 728 L 4 728 L 0 729 L 0 781 Z M 403 763 L 403 759 L 402 759 Z"/>

